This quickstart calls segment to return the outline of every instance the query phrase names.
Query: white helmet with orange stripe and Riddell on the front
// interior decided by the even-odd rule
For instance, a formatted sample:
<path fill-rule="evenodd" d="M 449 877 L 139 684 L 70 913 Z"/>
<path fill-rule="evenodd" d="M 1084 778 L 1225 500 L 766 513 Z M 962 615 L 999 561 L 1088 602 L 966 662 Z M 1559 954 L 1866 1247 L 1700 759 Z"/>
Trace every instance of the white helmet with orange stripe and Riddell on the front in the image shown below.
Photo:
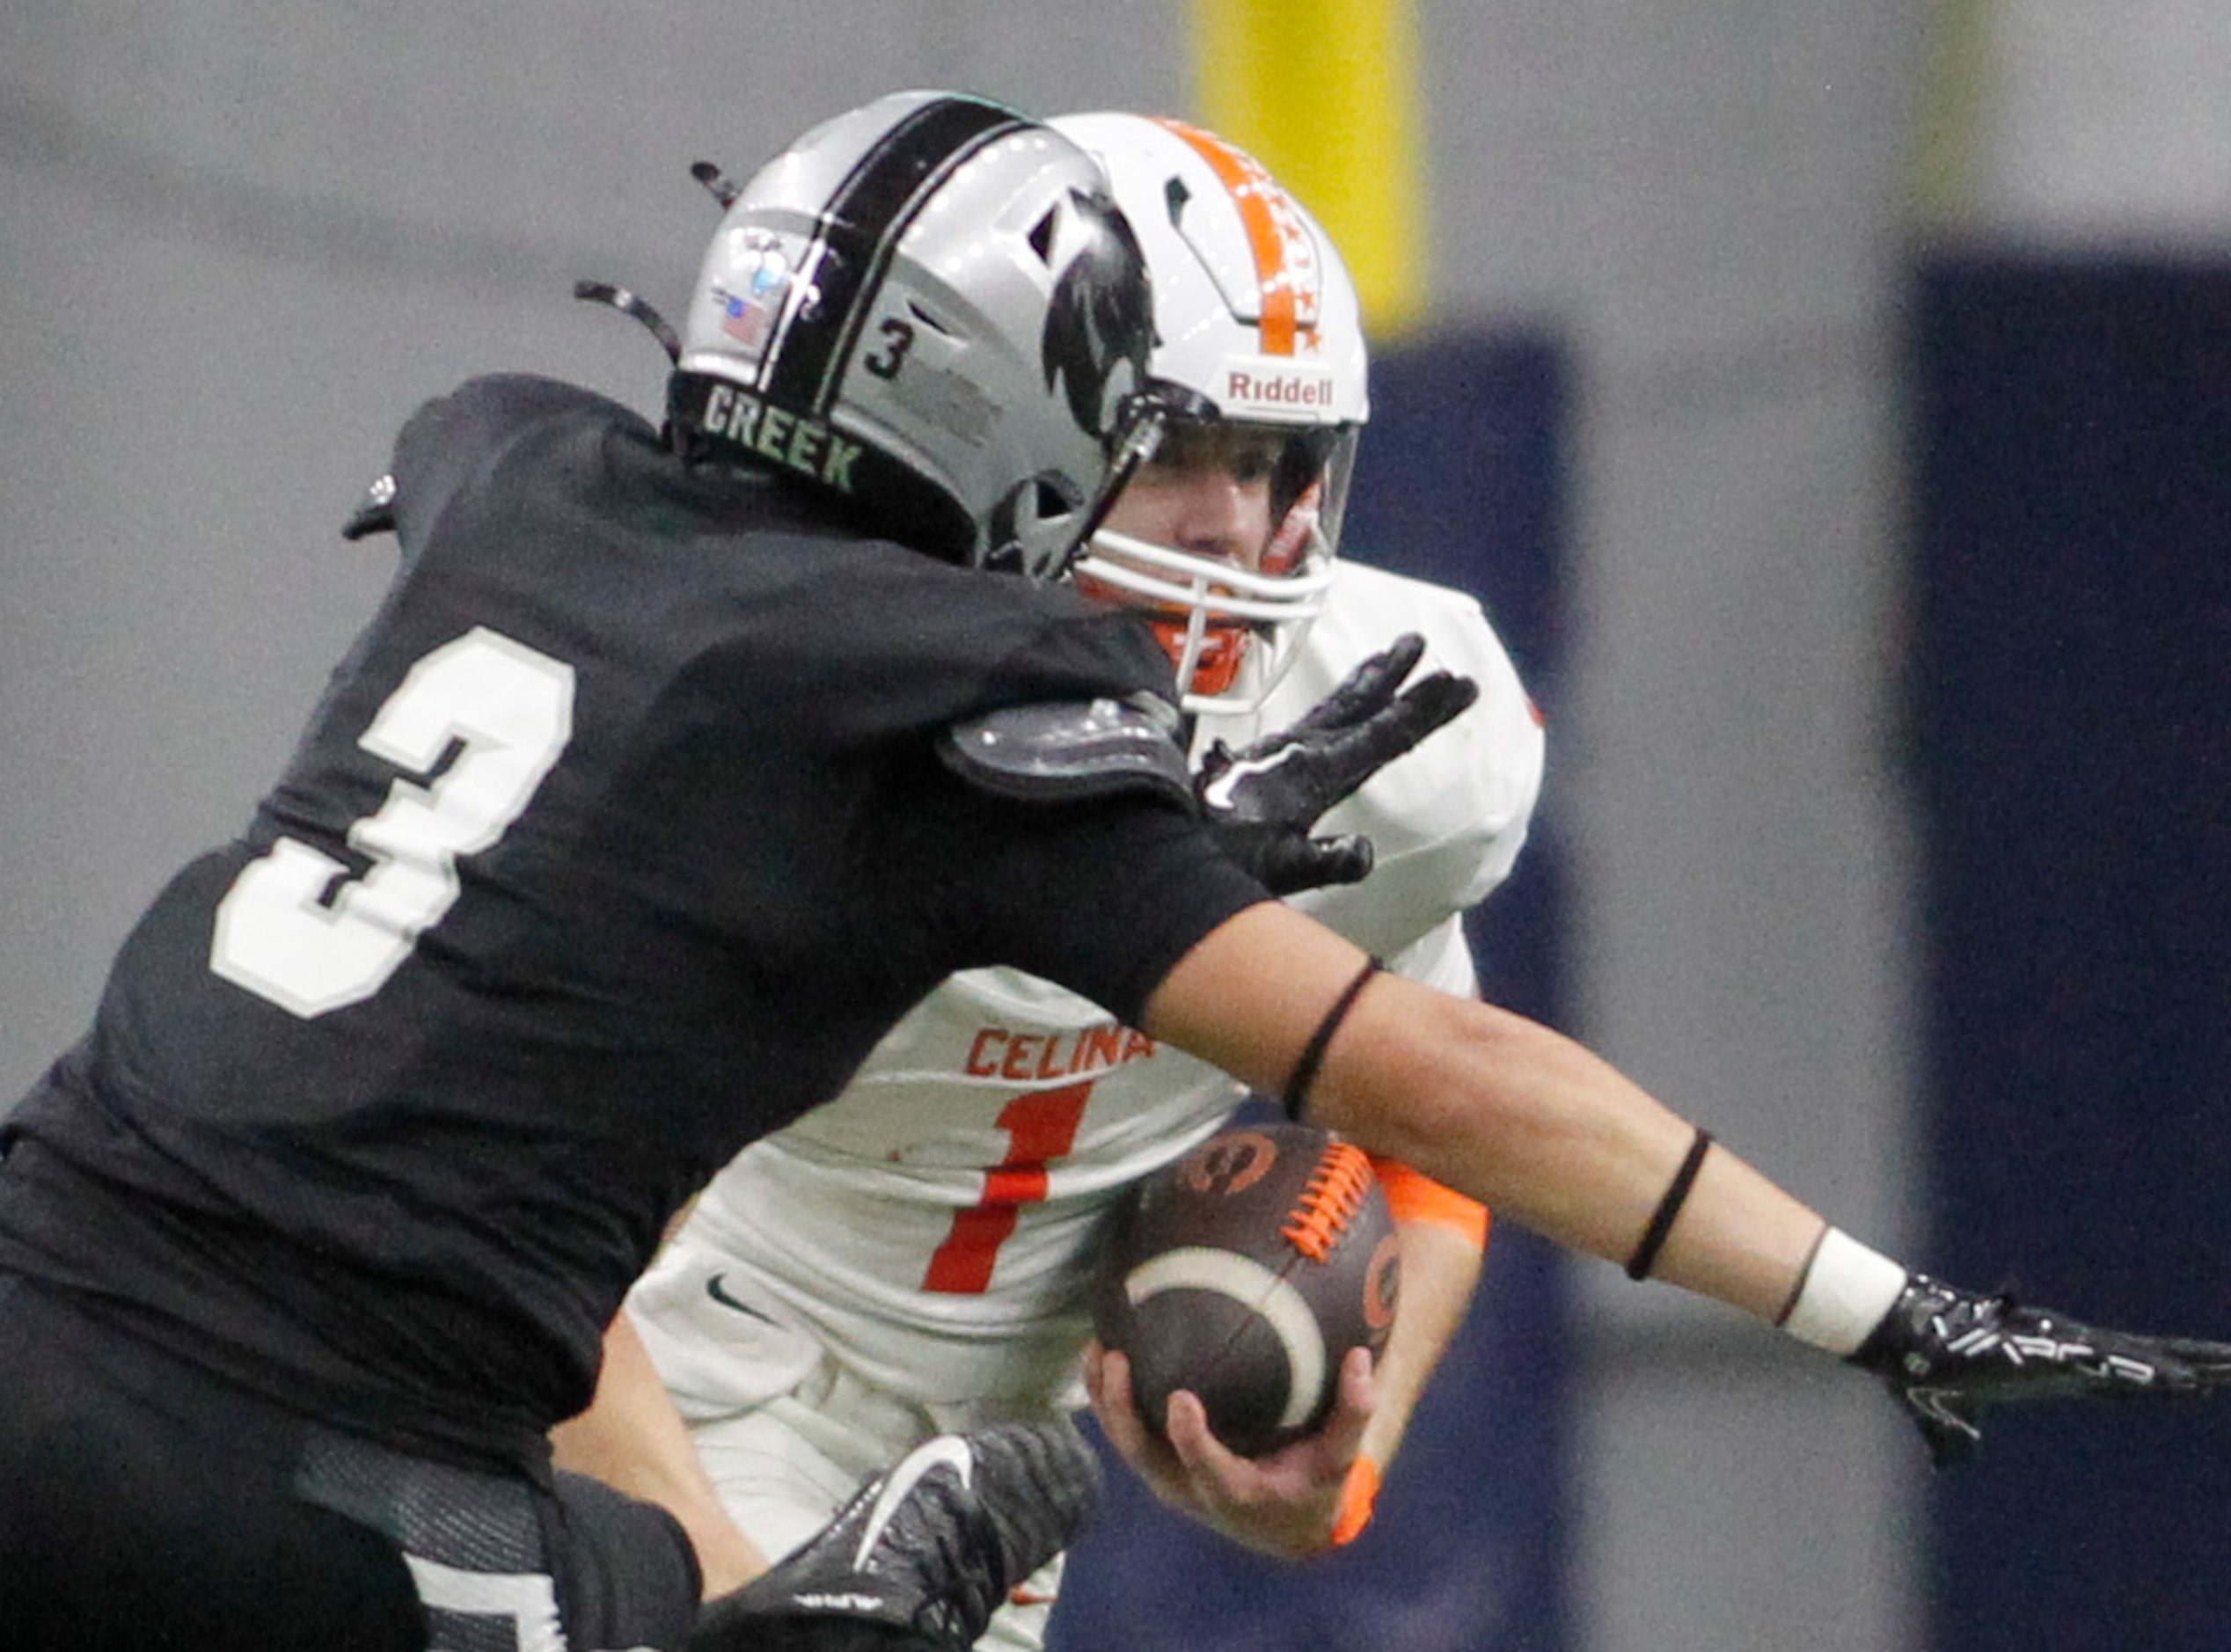
<path fill-rule="evenodd" d="M 1158 615 L 1189 711 L 1254 711 L 1332 584 L 1370 417 L 1356 288 L 1316 218 L 1216 134 L 1138 114 L 1049 125 L 1100 161 L 1147 252 L 1160 424 L 1285 435 L 1261 569 L 1100 528 L 1078 582 Z"/>

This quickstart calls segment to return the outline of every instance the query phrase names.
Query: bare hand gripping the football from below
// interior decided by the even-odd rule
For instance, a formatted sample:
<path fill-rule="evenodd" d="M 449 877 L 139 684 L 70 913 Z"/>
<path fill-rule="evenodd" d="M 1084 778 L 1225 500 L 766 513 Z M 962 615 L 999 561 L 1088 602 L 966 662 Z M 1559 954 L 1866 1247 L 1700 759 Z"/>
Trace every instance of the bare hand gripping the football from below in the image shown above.
<path fill-rule="evenodd" d="M 1109 1445 L 1167 1507 L 1281 1561 L 1334 1545 L 1348 1471 L 1377 1402 L 1368 1349 L 1350 1349 L 1341 1362 L 1341 1391 L 1325 1425 L 1258 1458 L 1229 1451 L 1209 1429 L 1200 1398 L 1182 1389 L 1169 1396 L 1160 1434 L 1149 1429 L 1131 1400 L 1129 1360 L 1098 1342 L 1084 1382 Z"/>

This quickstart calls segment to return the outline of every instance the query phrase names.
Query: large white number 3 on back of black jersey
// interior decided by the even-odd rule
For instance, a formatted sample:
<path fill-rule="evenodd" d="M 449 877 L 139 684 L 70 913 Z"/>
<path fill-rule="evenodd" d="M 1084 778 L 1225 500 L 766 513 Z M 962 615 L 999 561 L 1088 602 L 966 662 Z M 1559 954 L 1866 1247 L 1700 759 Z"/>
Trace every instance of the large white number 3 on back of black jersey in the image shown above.
<path fill-rule="evenodd" d="M 216 903 L 210 970 L 303 1019 L 373 997 L 457 898 L 457 856 L 504 836 L 571 738 L 573 667 L 486 626 L 444 642 L 357 745 L 426 774 L 455 740 L 455 762 L 397 778 L 348 827 L 373 865 L 330 901 L 348 867 L 299 838 L 243 867 Z"/>

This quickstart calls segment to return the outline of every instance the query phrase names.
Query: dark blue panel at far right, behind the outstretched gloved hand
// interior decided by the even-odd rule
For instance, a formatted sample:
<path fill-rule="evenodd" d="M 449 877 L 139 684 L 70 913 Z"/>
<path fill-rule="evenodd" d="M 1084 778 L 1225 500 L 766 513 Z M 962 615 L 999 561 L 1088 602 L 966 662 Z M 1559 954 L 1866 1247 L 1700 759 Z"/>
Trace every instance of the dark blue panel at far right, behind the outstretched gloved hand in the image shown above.
<path fill-rule="evenodd" d="M 2231 270 L 1941 261 L 1912 348 L 1930 1260 L 2231 1338 Z M 1934 1643 L 2231 1645 L 2231 1400 L 2003 1416 Z"/>

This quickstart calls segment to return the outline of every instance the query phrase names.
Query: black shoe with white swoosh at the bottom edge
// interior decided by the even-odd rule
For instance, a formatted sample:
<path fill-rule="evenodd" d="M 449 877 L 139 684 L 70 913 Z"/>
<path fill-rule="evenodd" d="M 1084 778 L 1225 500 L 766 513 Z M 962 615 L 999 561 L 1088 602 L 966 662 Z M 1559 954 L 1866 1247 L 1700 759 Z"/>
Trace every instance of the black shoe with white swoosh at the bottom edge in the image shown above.
<path fill-rule="evenodd" d="M 939 1434 L 707 1601 L 687 1652 L 964 1652 L 1098 1498 L 1100 1458 L 1066 1420 Z"/>

